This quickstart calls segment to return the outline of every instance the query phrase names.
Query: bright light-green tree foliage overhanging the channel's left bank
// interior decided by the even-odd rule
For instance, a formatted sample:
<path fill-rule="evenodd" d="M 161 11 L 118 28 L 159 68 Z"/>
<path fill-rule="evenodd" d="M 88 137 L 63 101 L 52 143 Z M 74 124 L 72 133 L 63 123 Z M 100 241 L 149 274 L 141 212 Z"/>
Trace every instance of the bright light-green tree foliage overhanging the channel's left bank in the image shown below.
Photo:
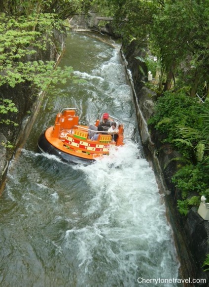
<path fill-rule="evenodd" d="M 73 1 L 74 8 L 81 2 Z M 34 93 L 37 93 L 40 90 L 53 90 L 57 83 L 64 84 L 71 78 L 72 67 L 61 69 L 56 67 L 54 61 L 36 60 L 39 57 L 37 51 L 46 51 L 51 45 L 56 44 L 53 40 L 54 30 L 63 32 L 62 21 L 54 12 L 57 10 L 62 14 L 61 6 L 66 6 L 68 3 L 71 1 L 16 0 L 12 4 L 10 1 L 1 1 L 0 86 L 8 85 L 15 88 L 17 84 L 26 83 L 33 88 Z M 49 13 L 50 11 L 52 13 Z M 56 48 L 59 52 L 59 46 Z M 0 114 L 18 112 L 14 104 L 6 100 L 4 95 L 0 101 Z M 0 124 L 18 125 L 9 120 L 9 116 L 1 118 Z"/>

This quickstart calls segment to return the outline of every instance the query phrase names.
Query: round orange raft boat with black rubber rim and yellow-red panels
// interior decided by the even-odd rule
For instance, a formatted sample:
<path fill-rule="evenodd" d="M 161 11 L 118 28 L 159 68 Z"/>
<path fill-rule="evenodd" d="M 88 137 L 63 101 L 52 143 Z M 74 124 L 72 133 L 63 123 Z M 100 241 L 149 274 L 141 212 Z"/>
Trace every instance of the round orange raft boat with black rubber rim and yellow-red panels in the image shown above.
<path fill-rule="evenodd" d="M 100 132 L 97 140 L 91 140 L 90 132 L 97 131 L 79 124 L 75 110 L 76 108 L 66 108 L 57 114 L 54 126 L 47 128 L 38 140 L 37 148 L 40 153 L 55 155 L 68 163 L 90 164 L 97 158 L 108 155 L 110 147 L 124 145 L 124 126 L 118 119 L 108 116 L 109 121 L 118 125 L 116 141 L 106 132 Z M 102 119 L 103 115 L 96 121 L 95 126 L 98 126 Z"/>

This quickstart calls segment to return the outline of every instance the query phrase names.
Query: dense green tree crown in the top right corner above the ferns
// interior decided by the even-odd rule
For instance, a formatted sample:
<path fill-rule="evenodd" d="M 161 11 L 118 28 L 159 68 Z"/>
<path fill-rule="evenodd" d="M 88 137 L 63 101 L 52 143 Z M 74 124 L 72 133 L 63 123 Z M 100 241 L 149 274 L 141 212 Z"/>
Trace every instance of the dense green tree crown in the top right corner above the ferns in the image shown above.
<path fill-rule="evenodd" d="M 191 96 L 203 91 L 209 83 L 209 0 L 164 1 L 151 28 L 150 38 L 167 73 L 178 74 L 179 84 L 186 83 Z"/>

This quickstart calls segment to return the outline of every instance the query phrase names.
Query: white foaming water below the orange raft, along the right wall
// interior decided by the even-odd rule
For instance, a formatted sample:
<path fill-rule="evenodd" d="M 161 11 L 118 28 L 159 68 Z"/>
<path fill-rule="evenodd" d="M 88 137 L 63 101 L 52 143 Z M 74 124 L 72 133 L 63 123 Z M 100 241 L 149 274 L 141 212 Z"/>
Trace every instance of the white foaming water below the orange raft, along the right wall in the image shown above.
<path fill-rule="evenodd" d="M 163 198 L 137 146 L 128 143 L 116 156 L 75 168 L 84 171 L 93 195 L 83 212 L 85 218 L 91 218 L 91 224 L 68 230 L 66 247 L 70 248 L 74 237 L 80 241 L 79 267 L 85 266 L 85 276 L 91 277 L 89 270 L 92 272 L 96 258 L 100 258 L 97 270 L 102 278 L 108 277 L 109 286 L 121 281 L 123 286 L 137 286 L 138 277 L 177 278 Z M 107 286 L 105 281 L 101 286 Z"/>

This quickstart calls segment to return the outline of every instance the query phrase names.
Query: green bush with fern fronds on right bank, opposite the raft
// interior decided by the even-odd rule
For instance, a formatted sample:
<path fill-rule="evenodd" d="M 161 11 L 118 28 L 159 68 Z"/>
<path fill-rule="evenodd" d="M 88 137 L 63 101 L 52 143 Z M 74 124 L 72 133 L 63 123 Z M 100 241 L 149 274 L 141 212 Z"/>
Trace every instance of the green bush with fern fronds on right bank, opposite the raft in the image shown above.
<path fill-rule="evenodd" d="M 158 98 L 149 123 L 165 134 L 162 142 L 171 143 L 185 163 L 172 181 L 181 191 L 179 212 L 186 215 L 191 206 L 199 205 L 201 195 L 209 197 L 209 102 L 200 103 L 184 90 L 167 91 Z"/>

